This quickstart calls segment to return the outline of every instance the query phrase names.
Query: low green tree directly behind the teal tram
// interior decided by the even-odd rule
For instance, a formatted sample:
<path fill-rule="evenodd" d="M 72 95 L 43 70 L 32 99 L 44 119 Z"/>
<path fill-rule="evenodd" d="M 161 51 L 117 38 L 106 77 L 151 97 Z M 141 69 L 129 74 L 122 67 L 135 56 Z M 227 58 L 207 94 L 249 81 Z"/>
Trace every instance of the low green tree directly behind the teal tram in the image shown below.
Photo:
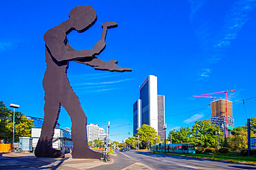
<path fill-rule="evenodd" d="M 178 130 L 172 130 L 169 133 L 168 140 L 171 141 L 171 134 L 172 134 L 172 143 L 183 143 L 183 142 L 192 142 L 193 136 L 190 127 L 181 127 Z"/>

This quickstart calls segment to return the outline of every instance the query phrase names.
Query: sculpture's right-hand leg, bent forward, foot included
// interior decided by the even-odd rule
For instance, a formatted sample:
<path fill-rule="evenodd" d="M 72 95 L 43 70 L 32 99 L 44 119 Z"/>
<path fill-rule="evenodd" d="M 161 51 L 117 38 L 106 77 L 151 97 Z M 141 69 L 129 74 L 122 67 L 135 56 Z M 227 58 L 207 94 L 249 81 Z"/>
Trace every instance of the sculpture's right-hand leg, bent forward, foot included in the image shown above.
<path fill-rule="evenodd" d="M 72 121 L 73 158 L 102 158 L 102 153 L 89 149 L 86 140 L 87 117 L 80 105 L 80 101 L 69 86 L 68 91 L 61 100 L 62 106 L 66 109 Z"/>

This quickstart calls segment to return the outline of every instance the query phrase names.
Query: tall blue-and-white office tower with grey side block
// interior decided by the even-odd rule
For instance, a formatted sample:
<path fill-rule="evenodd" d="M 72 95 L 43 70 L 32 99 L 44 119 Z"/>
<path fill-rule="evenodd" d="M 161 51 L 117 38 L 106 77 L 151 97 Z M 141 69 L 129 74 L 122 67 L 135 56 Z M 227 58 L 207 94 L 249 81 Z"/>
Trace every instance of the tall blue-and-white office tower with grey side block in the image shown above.
<path fill-rule="evenodd" d="M 165 96 L 157 94 L 157 77 L 149 75 L 140 86 L 140 99 L 134 103 L 134 136 L 137 133 L 136 128 L 145 124 L 153 127 L 163 139 L 164 123 Z"/>

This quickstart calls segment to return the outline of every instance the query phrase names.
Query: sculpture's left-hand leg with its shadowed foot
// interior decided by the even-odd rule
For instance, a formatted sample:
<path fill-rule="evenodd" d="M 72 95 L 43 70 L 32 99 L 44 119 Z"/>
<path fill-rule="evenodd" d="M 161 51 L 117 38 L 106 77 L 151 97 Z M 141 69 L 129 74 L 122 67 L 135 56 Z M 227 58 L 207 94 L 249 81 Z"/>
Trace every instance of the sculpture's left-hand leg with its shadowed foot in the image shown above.
<path fill-rule="evenodd" d="M 45 96 L 44 124 L 41 136 L 35 148 L 35 156 L 43 158 L 63 158 L 65 155 L 60 150 L 53 149 L 53 135 L 60 114 L 60 103 L 51 97 Z"/>

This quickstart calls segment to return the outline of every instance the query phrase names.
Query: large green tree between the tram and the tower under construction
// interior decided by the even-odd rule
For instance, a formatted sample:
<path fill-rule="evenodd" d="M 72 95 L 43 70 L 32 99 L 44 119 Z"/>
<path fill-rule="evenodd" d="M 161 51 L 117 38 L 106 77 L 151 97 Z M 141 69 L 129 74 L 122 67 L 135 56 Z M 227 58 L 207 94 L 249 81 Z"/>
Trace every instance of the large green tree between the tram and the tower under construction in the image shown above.
<path fill-rule="evenodd" d="M 198 120 L 192 127 L 192 135 L 194 136 L 192 142 L 196 144 L 197 147 L 201 146 L 201 136 L 202 136 L 202 147 L 214 147 L 216 131 L 219 131 L 219 127 L 212 125 L 210 120 Z M 221 132 L 221 136 L 223 133 Z M 219 141 L 223 142 L 223 137 L 219 136 Z"/>

